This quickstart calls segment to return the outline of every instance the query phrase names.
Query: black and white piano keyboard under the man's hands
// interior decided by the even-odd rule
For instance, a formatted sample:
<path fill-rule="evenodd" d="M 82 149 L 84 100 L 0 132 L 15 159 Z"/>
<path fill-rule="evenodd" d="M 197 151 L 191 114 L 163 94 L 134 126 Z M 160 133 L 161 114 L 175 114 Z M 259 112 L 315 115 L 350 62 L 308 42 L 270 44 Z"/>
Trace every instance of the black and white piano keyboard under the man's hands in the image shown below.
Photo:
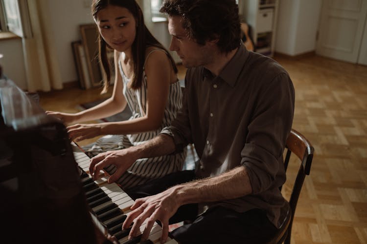
<path fill-rule="evenodd" d="M 90 158 L 72 143 L 74 159 L 82 169 L 81 181 L 86 193 L 87 203 L 92 209 L 92 220 L 102 233 L 115 236 L 119 243 L 140 243 L 140 236 L 128 240 L 130 229 L 122 230 L 122 224 L 130 213 L 130 207 L 134 204 L 131 199 L 116 183 L 107 183 L 107 177 L 103 176 L 94 181 L 89 175 Z M 140 226 L 140 232 L 144 231 L 146 222 Z M 162 235 L 161 226 L 157 223 L 144 243 L 160 243 Z M 174 239 L 168 237 L 167 244 L 177 244 Z"/>

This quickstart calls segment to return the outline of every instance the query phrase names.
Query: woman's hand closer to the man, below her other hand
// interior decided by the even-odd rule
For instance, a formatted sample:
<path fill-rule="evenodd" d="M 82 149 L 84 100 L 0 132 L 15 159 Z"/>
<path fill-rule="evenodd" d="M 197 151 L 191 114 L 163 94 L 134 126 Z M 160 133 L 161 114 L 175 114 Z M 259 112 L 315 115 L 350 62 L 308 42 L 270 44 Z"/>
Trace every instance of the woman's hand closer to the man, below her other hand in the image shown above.
<path fill-rule="evenodd" d="M 69 138 L 72 141 L 80 142 L 96 136 L 103 135 L 101 124 L 74 124 L 67 127 Z"/>

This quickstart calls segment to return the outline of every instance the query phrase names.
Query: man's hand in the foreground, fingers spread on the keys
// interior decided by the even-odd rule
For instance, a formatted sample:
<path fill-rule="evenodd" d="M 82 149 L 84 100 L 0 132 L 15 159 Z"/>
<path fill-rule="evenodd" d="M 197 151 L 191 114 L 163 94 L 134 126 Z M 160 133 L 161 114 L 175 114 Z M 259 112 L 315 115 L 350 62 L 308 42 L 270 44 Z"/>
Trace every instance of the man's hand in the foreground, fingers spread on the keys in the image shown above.
<path fill-rule="evenodd" d="M 162 224 L 161 243 L 165 243 L 168 237 L 168 221 L 176 213 L 181 206 L 179 203 L 175 187 L 169 188 L 157 195 L 137 199 L 131 207 L 133 210 L 126 218 L 122 228 L 127 229 L 133 223 L 133 227 L 129 233 L 129 239 L 139 234 L 141 224 L 147 219 L 144 232 L 141 236 L 142 240 L 149 237 L 149 233 L 156 220 Z"/>

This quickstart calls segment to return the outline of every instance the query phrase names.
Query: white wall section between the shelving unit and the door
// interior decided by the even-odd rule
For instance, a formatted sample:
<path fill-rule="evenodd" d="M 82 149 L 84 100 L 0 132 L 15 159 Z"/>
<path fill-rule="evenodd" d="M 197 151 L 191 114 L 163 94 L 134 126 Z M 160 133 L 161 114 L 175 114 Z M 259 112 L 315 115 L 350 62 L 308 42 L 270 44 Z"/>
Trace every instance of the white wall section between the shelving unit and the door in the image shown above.
<path fill-rule="evenodd" d="M 275 52 L 295 56 L 316 49 L 321 0 L 280 0 Z"/>

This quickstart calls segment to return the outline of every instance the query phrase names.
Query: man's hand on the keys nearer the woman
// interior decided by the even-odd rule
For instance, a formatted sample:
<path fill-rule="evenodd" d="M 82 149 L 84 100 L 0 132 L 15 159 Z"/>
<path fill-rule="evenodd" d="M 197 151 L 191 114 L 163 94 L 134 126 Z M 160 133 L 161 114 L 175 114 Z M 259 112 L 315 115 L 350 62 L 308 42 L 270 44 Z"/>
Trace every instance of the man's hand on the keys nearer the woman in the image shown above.
<path fill-rule="evenodd" d="M 93 179 L 98 180 L 99 171 L 103 170 L 103 168 L 108 165 L 114 164 L 116 166 L 116 171 L 108 178 L 108 183 L 113 183 L 117 181 L 136 160 L 138 160 L 138 157 L 129 149 L 107 151 L 91 159 L 89 171 Z"/>

